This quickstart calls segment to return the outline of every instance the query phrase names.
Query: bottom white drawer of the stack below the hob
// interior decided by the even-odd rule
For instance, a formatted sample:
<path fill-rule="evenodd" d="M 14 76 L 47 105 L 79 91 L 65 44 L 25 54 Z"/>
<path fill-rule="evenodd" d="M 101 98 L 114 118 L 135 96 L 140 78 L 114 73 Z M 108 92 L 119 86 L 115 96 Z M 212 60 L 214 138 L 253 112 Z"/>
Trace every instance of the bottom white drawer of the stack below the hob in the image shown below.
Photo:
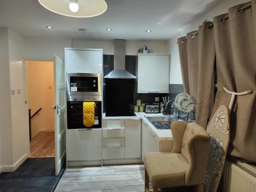
<path fill-rule="evenodd" d="M 103 159 L 123 159 L 124 158 L 124 146 L 103 146 L 102 147 Z"/>

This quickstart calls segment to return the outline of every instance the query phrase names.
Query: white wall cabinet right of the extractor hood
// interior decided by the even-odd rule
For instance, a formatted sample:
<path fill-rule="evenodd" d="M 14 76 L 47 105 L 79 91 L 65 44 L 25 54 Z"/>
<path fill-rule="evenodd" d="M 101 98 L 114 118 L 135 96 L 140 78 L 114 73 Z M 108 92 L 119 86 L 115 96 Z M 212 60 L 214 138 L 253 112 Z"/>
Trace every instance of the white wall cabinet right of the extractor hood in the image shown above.
<path fill-rule="evenodd" d="M 169 92 L 169 55 L 139 54 L 138 93 Z"/>

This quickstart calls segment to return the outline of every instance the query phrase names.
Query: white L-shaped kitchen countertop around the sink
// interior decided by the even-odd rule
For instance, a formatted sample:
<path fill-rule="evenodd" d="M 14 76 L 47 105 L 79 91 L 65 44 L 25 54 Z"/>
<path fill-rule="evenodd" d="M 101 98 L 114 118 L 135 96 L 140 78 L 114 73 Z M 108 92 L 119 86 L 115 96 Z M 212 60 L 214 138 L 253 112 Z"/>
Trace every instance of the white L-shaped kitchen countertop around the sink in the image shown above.
<path fill-rule="evenodd" d="M 151 131 L 153 131 L 153 133 L 157 136 L 159 141 L 173 140 L 172 131 L 156 129 L 156 127 L 150 121 L 148 121 L 147 118 L 145 117 L 145 116 L 162 117 L 164 116 L 163 114 L 161 113 L 148 114 L 144 112 L 139 112 L 138 114 L 140 115 L 141 119 L 150 127 Z"/>

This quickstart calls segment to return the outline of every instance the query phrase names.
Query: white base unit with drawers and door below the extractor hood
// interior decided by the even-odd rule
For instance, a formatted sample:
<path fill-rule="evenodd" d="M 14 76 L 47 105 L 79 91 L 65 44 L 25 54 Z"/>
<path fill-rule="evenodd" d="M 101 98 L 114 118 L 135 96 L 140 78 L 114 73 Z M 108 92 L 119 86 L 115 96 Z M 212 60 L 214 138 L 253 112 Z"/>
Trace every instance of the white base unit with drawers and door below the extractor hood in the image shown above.
<path fill-rule="evenodd" d="M 141 158 L 141 120 L 103 120 L 102 159 Z"/>

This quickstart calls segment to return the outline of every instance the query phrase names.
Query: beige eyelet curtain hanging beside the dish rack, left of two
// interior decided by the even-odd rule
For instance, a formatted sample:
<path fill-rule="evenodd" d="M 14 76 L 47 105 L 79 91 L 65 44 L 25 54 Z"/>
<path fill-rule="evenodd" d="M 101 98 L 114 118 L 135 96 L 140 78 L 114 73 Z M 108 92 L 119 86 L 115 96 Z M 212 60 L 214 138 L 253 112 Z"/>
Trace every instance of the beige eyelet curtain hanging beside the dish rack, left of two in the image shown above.
<path fill-rule="evenodd" d="M 214 104 L 214 30 L 204 22 L 198 34 L 178 39 L 183 86 L 196 103 L 196 122 L 206 129 Z"/>

